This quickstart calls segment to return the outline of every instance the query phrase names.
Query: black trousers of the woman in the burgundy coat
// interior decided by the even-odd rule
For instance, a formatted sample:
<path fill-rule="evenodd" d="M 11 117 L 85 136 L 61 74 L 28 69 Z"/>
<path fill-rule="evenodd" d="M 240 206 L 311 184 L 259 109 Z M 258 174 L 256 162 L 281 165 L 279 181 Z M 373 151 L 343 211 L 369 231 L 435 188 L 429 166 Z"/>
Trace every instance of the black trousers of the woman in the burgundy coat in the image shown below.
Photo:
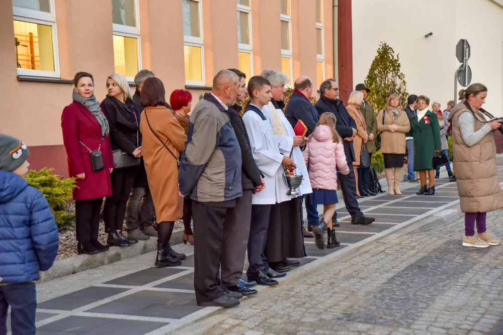
<path fill-rule="evenodd" d="M 103 198 L 75 200 L 75 233 L 78 242 L 98 241 Z"/>

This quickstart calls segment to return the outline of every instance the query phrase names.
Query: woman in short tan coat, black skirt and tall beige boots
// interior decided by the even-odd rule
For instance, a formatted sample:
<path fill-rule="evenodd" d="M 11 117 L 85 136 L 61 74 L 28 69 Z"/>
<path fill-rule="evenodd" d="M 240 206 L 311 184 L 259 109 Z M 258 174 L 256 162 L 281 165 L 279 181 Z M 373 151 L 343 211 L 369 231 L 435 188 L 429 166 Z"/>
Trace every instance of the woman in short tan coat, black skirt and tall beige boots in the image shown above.
<path fill-rule="evenodd" d="M 400 96 L 391 94 L 386 101 L 386 106 L 377 116 L 377 131 L 381 133 L 381 152 L 384 156 L 389 195 L 402 194 L 400 177 L 405 156 L 405 133 L 409 130 L 410 122 L 401 108 Z"/>

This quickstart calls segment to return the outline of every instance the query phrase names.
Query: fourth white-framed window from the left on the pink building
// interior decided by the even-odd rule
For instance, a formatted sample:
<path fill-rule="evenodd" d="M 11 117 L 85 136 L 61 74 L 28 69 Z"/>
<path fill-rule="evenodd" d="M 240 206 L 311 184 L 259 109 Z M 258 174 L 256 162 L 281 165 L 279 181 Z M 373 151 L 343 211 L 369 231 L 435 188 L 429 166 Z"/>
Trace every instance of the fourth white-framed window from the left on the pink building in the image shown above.
<path fill-rule="evenodd" d="M 246 82 L 253 76 L 250 2 L 237 0 L 238 68 L 246 74 Z"/>

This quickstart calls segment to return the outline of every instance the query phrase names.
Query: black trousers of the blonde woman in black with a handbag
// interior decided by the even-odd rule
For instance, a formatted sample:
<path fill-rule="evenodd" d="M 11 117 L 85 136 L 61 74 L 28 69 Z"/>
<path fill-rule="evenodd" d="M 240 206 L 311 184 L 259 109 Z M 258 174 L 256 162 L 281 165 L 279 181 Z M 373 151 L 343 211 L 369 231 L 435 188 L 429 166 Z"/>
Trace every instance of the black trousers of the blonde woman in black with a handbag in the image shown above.
<path fill-rule="evenodd" d="M 110 174 L 112 181 L 112 195 L 105 199 L 103 207 L 103 220 L 107 233 L 122 231 L 124 215 L 126 214 L 127 200 L 133 188 L 134 178 L 138 168 L 114 170 Z"/>

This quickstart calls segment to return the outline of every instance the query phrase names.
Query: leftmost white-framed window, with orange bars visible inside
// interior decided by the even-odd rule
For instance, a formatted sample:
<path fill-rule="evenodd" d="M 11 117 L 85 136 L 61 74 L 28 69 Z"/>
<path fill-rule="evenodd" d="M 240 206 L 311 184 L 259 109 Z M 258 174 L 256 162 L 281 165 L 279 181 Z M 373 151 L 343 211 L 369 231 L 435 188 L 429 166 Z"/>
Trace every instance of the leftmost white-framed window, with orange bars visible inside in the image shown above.
<path fill-rule="evenodd" d="M 59 77 L 54 0 L 12 0 L 19 75 Z"/>

